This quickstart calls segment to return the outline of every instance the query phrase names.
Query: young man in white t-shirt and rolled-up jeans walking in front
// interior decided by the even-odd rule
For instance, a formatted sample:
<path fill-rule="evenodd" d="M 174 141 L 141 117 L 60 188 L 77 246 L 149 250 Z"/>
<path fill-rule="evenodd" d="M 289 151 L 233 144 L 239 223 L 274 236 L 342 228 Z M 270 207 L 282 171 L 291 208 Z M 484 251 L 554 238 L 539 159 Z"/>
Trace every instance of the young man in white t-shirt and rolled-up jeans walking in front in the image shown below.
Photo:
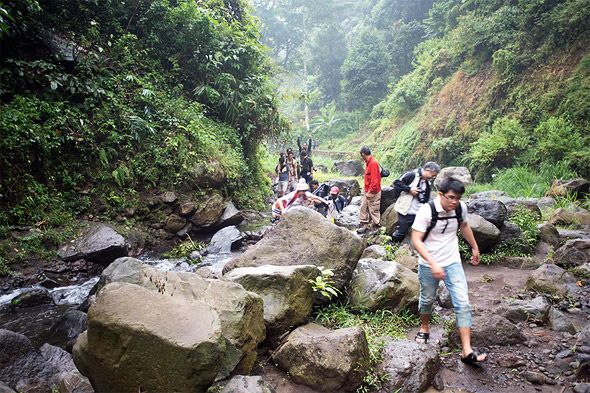
<path fill-rule="evenodd" d="M 467 290 L 467 279 L 459 255 L 459 238 L 457 229 L 471 246 L 471 263 L 479 264 L 479 248 L 473 231 L 467 223 L 467 206 L 461 202 L 465 192 L 463 183 L 454 178 L 444 179 L 439 186 L 438 197 L 432 201 L 437 213 L 434 227 L 431 227 L 433 211 L 429 203 L 422 206 L 416 214 L 412 225 L 412 244 L 418 254 L 418 280 L 420 281 L 420 331 L 416 334 L 417 342 L 428 342 L 429 322 L 432 306 L 440 280 L 444 280 L 449 290 L 459 337 L 461 339 L 461 361 L 479 366 L 487 354 L 478 354 L 471 348 L 471 305 Z M 457 216 L 461 204 L 461 217 Z"/>

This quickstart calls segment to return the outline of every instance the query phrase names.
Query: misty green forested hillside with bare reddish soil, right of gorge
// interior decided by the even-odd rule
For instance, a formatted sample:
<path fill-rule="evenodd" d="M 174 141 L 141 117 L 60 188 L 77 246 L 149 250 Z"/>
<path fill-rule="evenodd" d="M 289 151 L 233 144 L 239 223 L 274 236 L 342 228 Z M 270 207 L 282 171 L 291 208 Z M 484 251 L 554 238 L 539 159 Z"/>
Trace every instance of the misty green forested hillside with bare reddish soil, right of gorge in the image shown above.
<path fill-rule="evenodd" d="M 366 143 L 398 173 L 434 159 L 484 181 L 502 168 L 557 163 L 590 175 L 589 0 L 278 3 L 257 7 L 263 36 L 285 80 L 302 81 L 299 95 L 283 83 L 295 97 L 287 113 L 320 148 L 335 140 L 356 153 Z M 303 29 L 299 40 L 281 40 L 290 25 Z M 322 47 L 327 34 L 338 38 Z M 330 71 L 314 71 L 320 53 Z M 331 123 L 322 120 L 334 106 Z"/>

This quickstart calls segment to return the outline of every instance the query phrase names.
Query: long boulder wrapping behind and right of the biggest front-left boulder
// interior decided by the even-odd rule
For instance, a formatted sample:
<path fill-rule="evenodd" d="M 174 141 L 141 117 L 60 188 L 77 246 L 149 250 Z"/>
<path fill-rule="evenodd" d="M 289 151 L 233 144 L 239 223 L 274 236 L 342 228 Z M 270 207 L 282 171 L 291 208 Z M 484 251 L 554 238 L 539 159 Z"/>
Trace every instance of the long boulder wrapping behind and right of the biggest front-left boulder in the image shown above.
<path fill-rule="evenodd" d="M 100 292 L 112 282 L 141 285 L 185 302 L 204 302 L 220 320 L 225 338 L 223 365 L 218 378 L 232 371 L 249 373 L 256 360 L 256 347 L 265 338 L 263 303 L 258 295 L 229 281 L 206 279 L 193 273 L 162 271 L 134 258 L 120 258 L 107 267 L 98 283 Z"/>

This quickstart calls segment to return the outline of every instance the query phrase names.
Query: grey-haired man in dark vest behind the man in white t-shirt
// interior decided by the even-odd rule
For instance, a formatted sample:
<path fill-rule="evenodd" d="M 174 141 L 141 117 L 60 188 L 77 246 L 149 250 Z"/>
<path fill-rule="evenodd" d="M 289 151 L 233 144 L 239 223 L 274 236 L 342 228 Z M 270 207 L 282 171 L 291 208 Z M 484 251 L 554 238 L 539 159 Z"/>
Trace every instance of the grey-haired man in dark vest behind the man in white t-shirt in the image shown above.
<path fill-rule="evenodd" d="M 416 213 L 430 200 L 430 181 L 440 172 L 436 162 L 427 162 L 422 168 L 406 172 L 393 182 L 394 192 L 399 193 L 394 209 L 397 223 L 391 240 L 401 242 L 414 223 Z"/>

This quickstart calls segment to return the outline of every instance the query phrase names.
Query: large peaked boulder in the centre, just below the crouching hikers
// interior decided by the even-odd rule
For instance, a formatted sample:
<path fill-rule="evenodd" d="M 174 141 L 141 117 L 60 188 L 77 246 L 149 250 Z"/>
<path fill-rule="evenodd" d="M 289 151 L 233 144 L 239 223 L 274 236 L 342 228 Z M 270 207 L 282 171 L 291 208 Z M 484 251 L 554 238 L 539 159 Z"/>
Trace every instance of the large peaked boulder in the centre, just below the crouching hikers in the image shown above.
<path fill-rule="evenodd" d="M 333 270 L 334 286 L 342 290 L 365 246 L 364 240 L 330 223 L 320 213 L 295 207 L 260 242 L 226 264 L 223 273 L 262 265 L 323 266 Z"/>

